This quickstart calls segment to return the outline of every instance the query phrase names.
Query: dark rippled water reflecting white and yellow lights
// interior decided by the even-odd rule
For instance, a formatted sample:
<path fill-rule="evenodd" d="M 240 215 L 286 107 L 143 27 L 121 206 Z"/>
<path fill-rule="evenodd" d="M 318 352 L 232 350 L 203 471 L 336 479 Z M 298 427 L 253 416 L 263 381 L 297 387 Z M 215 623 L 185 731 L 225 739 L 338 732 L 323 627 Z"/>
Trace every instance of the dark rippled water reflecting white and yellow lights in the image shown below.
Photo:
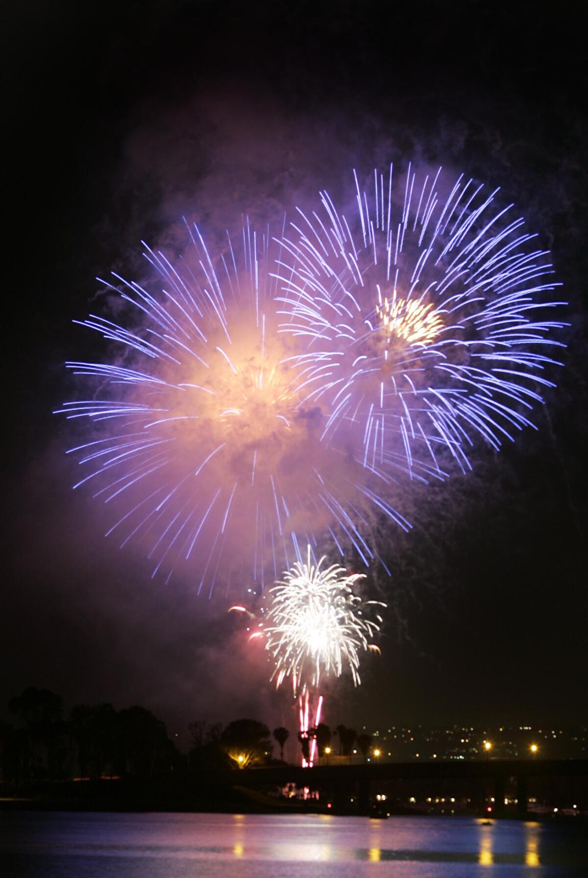
<path fill-rule="evenodd" d="M 588 874 L 578 825 L 470 818 L 0 814 L 2 878 Z"/>

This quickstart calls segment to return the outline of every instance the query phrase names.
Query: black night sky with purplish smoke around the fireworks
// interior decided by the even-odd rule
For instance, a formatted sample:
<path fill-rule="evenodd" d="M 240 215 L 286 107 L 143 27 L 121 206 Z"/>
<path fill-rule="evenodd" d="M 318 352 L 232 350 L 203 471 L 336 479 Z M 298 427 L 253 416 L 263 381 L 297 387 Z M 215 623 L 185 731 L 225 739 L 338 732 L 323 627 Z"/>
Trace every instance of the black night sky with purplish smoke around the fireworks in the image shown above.
<path fill-rule="evenodd" d="M 99 356 L 72 319 L 94 277 L 183 213 L 203 229 L 291 210 L 351 168 L 443 164 L 500 185 L 551 248 L 571 327 L 527 430 L 390 531 L 382 658 L 326 721 L 586 722 L 586 118 L 575 4 L 8 4 L 11 186 L 4 302 L 16 319 L 4 457 L 0 711 L 26 686 L 194 719 L 288 719 L 221 601 L 149 578 L 71 492 L 63 361 Z M 10 206 L 9 206 L 10 204 Z M 519 214 L 518 214 L 519 215 Z M 11 273 L 9 271 L 9 273 Z M 97 301 L 98 298 L 98 301 Z M 6 308 L 5 308 L 6 312 Z M 5 385 L 6 386 L 6 385 Z M 5 410 L 6 411 L 6 410 Z M 533 435 L 531 435 L 533 433 Z M 8 718 L 8 715 L 6 715 Z"/>

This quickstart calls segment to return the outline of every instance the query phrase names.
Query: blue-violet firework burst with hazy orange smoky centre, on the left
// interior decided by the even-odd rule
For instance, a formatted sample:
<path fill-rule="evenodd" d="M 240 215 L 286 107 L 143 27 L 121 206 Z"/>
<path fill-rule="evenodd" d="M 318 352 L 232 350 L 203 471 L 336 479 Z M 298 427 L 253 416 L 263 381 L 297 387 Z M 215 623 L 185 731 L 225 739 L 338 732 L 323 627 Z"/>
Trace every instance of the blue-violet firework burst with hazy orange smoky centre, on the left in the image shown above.
<path fill-rule="evenodd" d="M 186 227 L 179 259 L 144 245 L 154 290 L 101 281 L 124 318 L 75 321 L 113 348 L 111 362 L 67 363 L 83 385 L 58 410 L 82 424 L 68 452 L 83 469 L 75 487 L 112 510 L 106 536 L 140 543 L 153 576 L 194 565 L 199 594 L 216 581 L 229 591 L 231 577 L 263 589 L 325 533 L 369 564 L 362 503 L 409 525 L 361 461 L 321 441 L 323 413 L 303 404 L 290 362 L 301 348 L 279 333 L 271 277 L 281 248 L 247 222 L 213 259 Z"/>

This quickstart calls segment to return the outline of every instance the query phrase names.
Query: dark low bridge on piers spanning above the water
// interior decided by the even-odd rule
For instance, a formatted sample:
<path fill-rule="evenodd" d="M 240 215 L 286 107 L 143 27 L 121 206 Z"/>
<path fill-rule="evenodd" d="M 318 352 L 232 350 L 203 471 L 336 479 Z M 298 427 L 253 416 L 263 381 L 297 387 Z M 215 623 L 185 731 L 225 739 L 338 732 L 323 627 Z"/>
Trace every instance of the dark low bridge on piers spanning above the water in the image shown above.
<path fill-rule="evenodd" d="M 588 777 L 588 759 L 452 759 L 429 762 L 370 762 L 350 766 L 318 765 L 313 768 L 268 766 L 243 768 L 235 775 L 235 780 L 239 786 L 248 788 L 285 787 L 288 783 L 328 790 L 357 788 L 360 810 L 367 810 L 369 807 L 371 785 L 378 781 L 488 780 L 493 782 L 494 787 L 493 811 L 499 816 L 505 808 L 507 782 L 514 778 L 519 814 L 524 816 L 527 810 L 529 779 L 544 777 Z M 227 780 L 225 774 L 223 781 Z"/>

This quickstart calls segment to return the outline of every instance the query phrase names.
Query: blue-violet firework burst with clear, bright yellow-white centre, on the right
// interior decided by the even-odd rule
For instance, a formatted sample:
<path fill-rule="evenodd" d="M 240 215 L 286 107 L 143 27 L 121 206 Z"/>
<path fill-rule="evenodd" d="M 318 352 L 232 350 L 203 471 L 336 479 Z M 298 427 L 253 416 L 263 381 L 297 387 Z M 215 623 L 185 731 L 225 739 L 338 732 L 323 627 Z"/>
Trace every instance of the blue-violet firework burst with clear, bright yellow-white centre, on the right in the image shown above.
<path fill-rule="evenodd" d="M 322 407 L 323 443 L 346 445 L 387 481 L 471 468 L 476 440 L 498 450 L 541 404 L 567 324 L 548 251 L 534 247 L 497 190 L 440 168 L 355 176 L 349 221 L 327 192 L 282 241 L 280 331 L 304 340 L 290 363 L 304 404 Z M 445 194 L 442 194 L 441 189 Z M 386 493 L 383 491 L 382 493 Z"/>

